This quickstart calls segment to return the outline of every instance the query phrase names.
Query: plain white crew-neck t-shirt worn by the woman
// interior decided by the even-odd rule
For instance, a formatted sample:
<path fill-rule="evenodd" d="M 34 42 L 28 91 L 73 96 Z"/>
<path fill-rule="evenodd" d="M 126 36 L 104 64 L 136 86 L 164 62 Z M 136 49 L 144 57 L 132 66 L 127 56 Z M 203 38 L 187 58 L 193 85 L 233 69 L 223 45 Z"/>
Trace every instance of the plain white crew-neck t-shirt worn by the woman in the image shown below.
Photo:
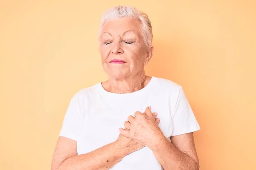
<path fill-rule="evenodd" d="M 81 89 L 70 101 L 59 136 L 77 141 L 78 155 L 114 142 L 129 115 L 151 106 L 166 138 L 200 129 L 183 88 L 168 79 L 152 77 L 140 91 L 114 94 L 101 83 Z M 162 170 L 148 147 L 133 152 L 111 170 Z"/>

